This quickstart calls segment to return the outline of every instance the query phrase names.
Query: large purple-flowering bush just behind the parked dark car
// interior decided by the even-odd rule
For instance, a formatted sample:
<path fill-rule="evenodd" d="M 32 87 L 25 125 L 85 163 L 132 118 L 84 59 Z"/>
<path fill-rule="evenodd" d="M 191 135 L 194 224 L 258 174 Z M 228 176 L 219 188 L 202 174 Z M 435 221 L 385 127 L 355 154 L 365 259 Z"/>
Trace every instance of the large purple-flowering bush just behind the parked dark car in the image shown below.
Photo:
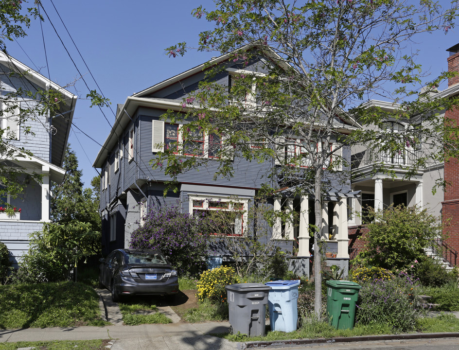
<path fill-rule="evenodd" d="M 181 213 L 175 206 L 153 208 L 145 223 L 131 234 L 131 248 L 161 251 L 179 273 L 195 273 L 207 255 L 202 218 Z"/>

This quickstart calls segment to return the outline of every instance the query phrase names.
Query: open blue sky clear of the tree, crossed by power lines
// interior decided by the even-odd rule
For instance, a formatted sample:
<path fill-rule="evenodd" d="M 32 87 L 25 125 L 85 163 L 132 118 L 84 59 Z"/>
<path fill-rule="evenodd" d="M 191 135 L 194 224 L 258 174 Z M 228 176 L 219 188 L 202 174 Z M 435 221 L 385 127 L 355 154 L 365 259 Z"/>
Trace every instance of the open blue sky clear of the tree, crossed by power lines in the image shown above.
<path fill-rule="evenodd" d="M 177 42 L 196 45 L 199 32 L 211 27 L 204 18 L 198 20 L 192 17 L 191 10 L 199 4 L 211 9 L 212 0 L 53 0 L 99 89 L 73 46 L 51 0 L 41 1 L 89 89 L 101 91 L 110 100 L 113 110 L 116 110 L 117 104 L 124 103 L 127 96 L 217 55 L 189 50 L 184 57 L 169 58 L 164 53 L 166 47 Z M 47 77 L 49 68 L 51 80 L 61 86 L 72 84 L 68 89 L 81 97 L 76 104 L 73 123 L 90 138 L 103 144 L 110 125 L 99 108 L 89 108 L 86 100 L 88 88 L 50 21 L 45 14 L 42 15 L 45 21 L 41 26 L 34 21 L 27 37 L 18 39 L 18 44 L 7 43 L 8 53 Z M 458 29 L 453 28 L 447 35 L 438 32 L 419 36 L 417 42 L 412 43 L 412 51 L 420 51 L 418 61 L 424 70 L 430 70 L 433 79 L 447 69 L 448 53 L 445 50 L 457 43 Z M 110 109 L 105 108 L 104 113 L 113 124 L 115 117 Z M 72 126 L 69 142 L 76 151 L 79 168 L 83 170 L 82 179 L 88 187 L 92 177 L 97 175 L 92 163 L 100 146 L 76 127 Z"/>

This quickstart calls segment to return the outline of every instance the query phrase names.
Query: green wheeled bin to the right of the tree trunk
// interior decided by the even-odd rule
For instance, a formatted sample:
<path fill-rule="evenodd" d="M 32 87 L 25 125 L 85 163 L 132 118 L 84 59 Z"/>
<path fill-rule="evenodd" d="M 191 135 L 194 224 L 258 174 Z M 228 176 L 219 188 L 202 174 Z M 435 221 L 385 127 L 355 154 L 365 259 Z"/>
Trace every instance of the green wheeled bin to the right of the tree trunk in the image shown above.
<path fill-rule="evenodd" d="M 328 280 L 327 286 L 328 323 L 337 329 L 352 329 L 361 286 L 348 280 Z"/>

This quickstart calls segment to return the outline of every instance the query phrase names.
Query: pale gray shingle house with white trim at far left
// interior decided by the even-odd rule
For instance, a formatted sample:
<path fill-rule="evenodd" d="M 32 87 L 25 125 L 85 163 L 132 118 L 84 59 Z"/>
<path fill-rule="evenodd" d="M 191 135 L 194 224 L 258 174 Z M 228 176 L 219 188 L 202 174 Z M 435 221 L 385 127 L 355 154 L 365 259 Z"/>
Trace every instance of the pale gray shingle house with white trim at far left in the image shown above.
<path fill-rule="evenodd" d="M 35 114 L 19 124 L 20 110 L 35 108 L 39 104 L 31 96 L 48 89 L 58 91 L 62 97 L 58 112 L 53 115 L 49 111 L 43 115 Z M 0 162 L 22 168 L 24 174 L 19 180 L 26 184 L 25 191 L 18 198 L 10 195 L 2 198 L 21 209 L 20 212 L 14 216 L 0 213 L 0 241 L 8 247 L 13 262 L 17 264 L 20 256 L 28 250 L 28 235 L 41 230 L 43 222 L 50 221 L 50 182 L 61 183 L 65 176 L 61 166 L 77 97 L 4 53 L 0 53 L 0 91 L 1 108 L 4 111 L 8 108 L 1 117 L 1 127 L 7 130 L 3 139 L 8 139 L 7 147 L 13 150 L 8 153 L 9 156 L 0 155 Z M 17 97 L 8 97 L 8 94 L 18 91 Z M 12 105 L 14 108 L 11 108 Z M 23 155 L 21 148 L 31 151 L 33 156 Z M 34 172 L 43 176 L 41 183 L 29 176 Z"/>

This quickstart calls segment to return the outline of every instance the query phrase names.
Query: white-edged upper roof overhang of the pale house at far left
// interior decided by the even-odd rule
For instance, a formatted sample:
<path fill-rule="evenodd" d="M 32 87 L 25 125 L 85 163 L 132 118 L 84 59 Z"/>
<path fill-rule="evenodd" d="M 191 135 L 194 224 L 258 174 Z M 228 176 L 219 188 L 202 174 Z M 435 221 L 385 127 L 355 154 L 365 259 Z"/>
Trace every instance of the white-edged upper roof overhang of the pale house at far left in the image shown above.
<path fill-rule="evenodd" d="M 63 105 L 61 105 L 59 112 L 56 112 L 56 115 L 53 116 L 52 125 L 56 132 L 51 137 L 51 163 L 61 166 L 64 161 L 67 141 L 69 140 L 70 127 L 77 96 L 41 75 L 37 71 L 26 66 L 17 59 L 1 51 L 0 63 L 8 67 L 10 70 L 22 74 L 24 78 L 44 90 L 51 88 L 61 93 L 63 97 Z"/>

